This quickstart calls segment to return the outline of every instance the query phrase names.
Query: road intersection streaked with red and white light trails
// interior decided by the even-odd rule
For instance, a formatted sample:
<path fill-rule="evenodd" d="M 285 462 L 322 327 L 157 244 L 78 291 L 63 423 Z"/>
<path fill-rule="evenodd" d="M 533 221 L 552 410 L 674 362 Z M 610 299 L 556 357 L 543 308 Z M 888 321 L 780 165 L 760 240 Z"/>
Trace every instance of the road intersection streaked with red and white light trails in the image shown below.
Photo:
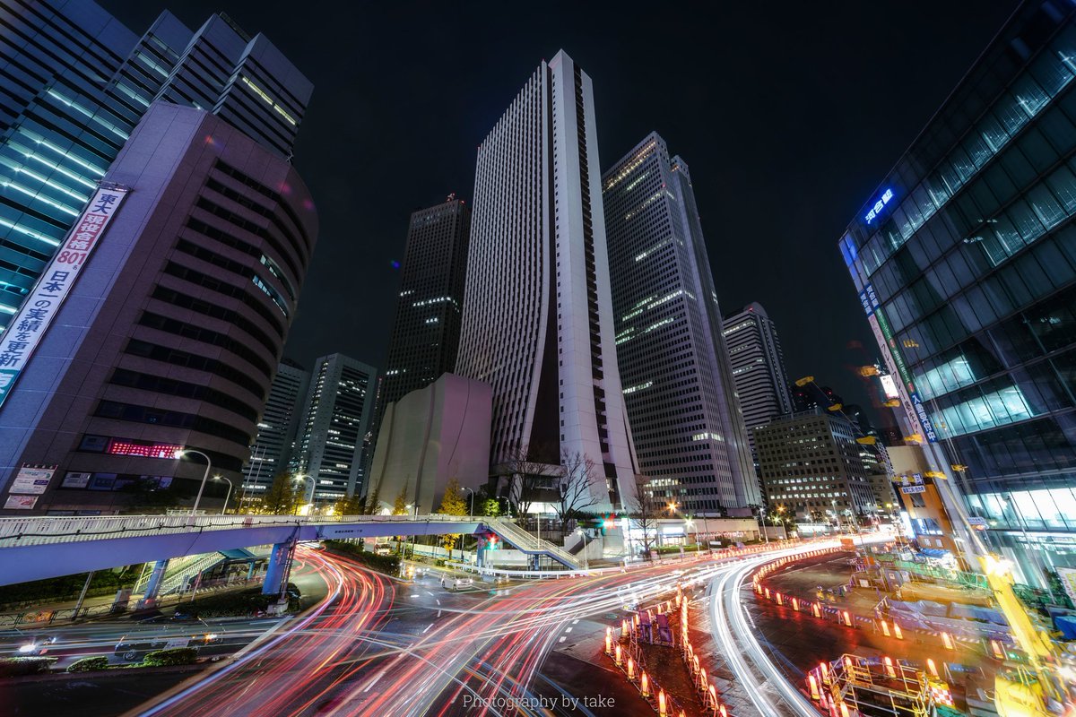
<path fill-rule="evenodd" d="M 738 602 L 750 571 L 773 555 L 721 563 L 666 561 L 626 573 L 495 589 L 480 586 L 456 593 L 441 588 L 436 573 L 405 583 L 371 573 L 344 557 L 300 548 L 296 573 L 323 580 L 328 586 L 326 600 L 275 625 L 229 663 L 192 676 L 127 714 L 647 714 L 649 707 L 638 693 L 598 657 L 606 626 L 618 625 L 628 604 L 649 605 L 678 584 L 693 583 L 710 587 L 716 651 L 728 656 L 737 689 L 742 682 L 748 694 L 744 704 L 766 717 L 813 716 L 818 714 L 813 707 L 766 659 Z M 257 626 L 243 626 L 247 627 Z M 152 628 L 182 633 L 185 626 Z M 105 649 L 114 647 L 116 634 L 103 628 L 87 630 Z M 130 684 L 118 675 L 100 682 L 109 679 Z M 613 704 L 587 708 L 575 701 L 584 697 L 606 698 Z M 85 714 L 118 712 L 122 708 Z M 746 717 L 750 712 L 735 714 Z"/>

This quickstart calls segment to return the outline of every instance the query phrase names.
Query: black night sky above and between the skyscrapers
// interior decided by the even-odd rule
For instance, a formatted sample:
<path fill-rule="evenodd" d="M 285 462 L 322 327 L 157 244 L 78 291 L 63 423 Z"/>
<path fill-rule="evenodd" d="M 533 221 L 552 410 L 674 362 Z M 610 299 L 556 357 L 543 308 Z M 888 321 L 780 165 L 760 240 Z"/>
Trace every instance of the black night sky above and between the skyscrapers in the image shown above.
<path fill-rule="evenodd" d="M 192 29 L 225 12 L 314 83 L 294 163 L 321 235 L 285 352 L 308 368 L 341 352 L 383 369 L 410 213 L 471 199 L 478 144 L 563 47 L 594 81 L 601 169 L 662 134 L 691 168 L 722 311 L 759 301 L 791 378 L 863 403 L 851 368 L 877 347 L 837 240 L 1016 6 L 101 4 L 138 33 L 166 8 Z"/>

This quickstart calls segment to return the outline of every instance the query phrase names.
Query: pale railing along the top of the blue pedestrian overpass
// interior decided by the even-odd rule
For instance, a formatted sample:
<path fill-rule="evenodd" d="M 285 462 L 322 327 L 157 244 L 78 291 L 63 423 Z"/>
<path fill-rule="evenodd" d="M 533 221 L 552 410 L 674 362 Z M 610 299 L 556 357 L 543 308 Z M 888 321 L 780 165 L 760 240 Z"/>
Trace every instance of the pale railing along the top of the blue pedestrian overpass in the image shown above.
<path fill-rule="evenodd" d="M 329 526 L 335 524 L 492 522 L 491 518 L 459 515 L 114 515 L 27 516 L 0 518 L 0 548 L 148 534 L 238 530 L 273 526 Z"/>

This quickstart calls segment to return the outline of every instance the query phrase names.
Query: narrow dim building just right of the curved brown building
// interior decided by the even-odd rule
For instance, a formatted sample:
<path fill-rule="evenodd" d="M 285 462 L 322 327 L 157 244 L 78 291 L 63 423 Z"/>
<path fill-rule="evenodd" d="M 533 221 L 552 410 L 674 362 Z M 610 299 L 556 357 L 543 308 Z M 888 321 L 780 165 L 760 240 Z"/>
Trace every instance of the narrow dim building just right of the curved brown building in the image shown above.
<path fill-rule="evenodd" d="M 310 372 L 288 358 L 281 360 L 258 419 L 251 458 L 243 465 L 242 503 L 250 501 L 256 505 L 273 477 L 287 470 L 309 389 Z"/>

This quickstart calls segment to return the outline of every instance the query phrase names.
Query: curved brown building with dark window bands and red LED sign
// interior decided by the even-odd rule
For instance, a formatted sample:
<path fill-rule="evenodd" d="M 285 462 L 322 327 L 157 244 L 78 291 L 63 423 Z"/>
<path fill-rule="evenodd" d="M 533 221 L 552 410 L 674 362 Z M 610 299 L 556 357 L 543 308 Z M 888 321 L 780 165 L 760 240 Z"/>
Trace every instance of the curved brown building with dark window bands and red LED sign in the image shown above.
<path fill-rule="evenodd" d="M 240 485 L 295 316 L 317 220 L 282 158 L 207 112 L 156 102 L 104 178 L 126 199 L 0 406 L 9 510 L 138 504 L 202 477 L 204 458 L 175 460 L 178 448 Z M 61 272 L 48 271 L 34 296 L 53 290 Z M 5 364 L 32 324 L 0 335 Z M 47 472 L 37 492 L 28 467 Z"/>

